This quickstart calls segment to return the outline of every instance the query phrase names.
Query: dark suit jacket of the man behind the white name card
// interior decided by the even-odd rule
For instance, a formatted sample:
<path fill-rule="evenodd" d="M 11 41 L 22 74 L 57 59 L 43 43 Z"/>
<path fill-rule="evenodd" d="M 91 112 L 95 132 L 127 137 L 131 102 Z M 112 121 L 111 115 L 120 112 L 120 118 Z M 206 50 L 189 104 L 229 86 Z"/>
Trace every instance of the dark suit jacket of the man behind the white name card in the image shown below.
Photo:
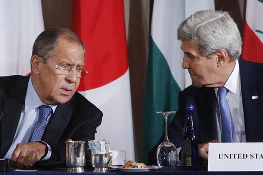
<path fill-rule="evenodd" d="M 240 81 L 247 142 L 263 142 L 263 64 L 239 59 Z M 258 95 L 258 99 L 252 99 Z M 168 138 L 178 148 L 182 142 L 185 105 L 193 104 L 194 127 L 199 143 L 217 139 L 216 104 L 214 88 L 195 88 L 192 85 L 179 94 L 179 109 L 168 126 Z M 156 149 L 148 154 L 148 164 L 156 164 Z"/>

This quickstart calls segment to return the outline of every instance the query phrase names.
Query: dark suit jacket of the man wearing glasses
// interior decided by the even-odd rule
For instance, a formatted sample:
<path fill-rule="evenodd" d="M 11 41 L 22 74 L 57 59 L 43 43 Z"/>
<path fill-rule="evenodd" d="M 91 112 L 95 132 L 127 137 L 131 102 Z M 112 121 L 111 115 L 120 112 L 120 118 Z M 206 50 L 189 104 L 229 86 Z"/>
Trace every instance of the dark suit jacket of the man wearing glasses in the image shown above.
<path fill-rule="evenodd" d="M 0 123 L 0 158 L 7 153 L 25 104 L 29 77 L 14 75 L 0 77 L 0 107 L 3 120 Z M 89 141 L 95 139 L 96 128 L 101 124 L 102 112 L 80 93 L 71 100 L 59 104 L 51 116 L 42 137 L 50 145 L 49 160 L 65 160 L 65 141 Z M 87 145 L 87 144 L 86 144 Z"/>

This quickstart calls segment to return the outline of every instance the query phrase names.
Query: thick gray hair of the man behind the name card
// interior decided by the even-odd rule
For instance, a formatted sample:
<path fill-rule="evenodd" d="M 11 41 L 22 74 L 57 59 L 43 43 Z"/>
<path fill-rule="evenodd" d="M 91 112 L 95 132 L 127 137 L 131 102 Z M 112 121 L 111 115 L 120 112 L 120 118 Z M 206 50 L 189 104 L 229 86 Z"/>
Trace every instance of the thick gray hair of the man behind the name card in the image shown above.
<path fill-rule="evenodd" d="M 241 54 L 241 36 L 228 12 L 196 12 L 180 24 L 177 38 L 181 41 L 194 41 L 206 57 L 219 49 L 226 50 L 232 59 L 238 59 Z"/>

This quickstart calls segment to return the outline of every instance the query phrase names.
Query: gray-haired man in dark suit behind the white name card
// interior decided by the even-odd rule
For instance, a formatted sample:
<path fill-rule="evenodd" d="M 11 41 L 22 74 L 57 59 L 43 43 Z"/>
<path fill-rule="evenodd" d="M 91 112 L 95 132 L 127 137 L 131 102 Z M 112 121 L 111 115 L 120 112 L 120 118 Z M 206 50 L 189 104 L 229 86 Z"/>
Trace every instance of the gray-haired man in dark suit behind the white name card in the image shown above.
<path fill-rule="evenodd" d="M 204 160 L 209 142 L 262 142 L 263 65 L 238 60 L 241 37 L 231 16 L 199 11 L 181 23 L 177 34 L 184 52 L 182 67 L 188 69 L 192 85 L 179 94 L 179 109 L 168 127 L 170 141 L 181 147 L 185 105 L 193 104 L 199 155 Z M 149 164 L 156 164 L 159 143 L 149 152 Z"/>

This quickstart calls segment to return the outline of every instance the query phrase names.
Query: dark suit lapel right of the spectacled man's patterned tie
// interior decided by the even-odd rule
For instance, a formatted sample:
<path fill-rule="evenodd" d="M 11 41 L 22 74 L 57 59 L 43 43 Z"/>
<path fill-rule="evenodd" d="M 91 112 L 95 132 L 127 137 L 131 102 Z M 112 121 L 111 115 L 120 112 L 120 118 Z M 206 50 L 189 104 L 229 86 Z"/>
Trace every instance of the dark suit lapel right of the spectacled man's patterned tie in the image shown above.
<path fill-rule="evenodd" d="M 70 105 L 70 101 L 59 104 L 46 126 L 42 140 L 50 145 L 57 144 L 68 125 L 71 114 L 72 105 Z"/>

